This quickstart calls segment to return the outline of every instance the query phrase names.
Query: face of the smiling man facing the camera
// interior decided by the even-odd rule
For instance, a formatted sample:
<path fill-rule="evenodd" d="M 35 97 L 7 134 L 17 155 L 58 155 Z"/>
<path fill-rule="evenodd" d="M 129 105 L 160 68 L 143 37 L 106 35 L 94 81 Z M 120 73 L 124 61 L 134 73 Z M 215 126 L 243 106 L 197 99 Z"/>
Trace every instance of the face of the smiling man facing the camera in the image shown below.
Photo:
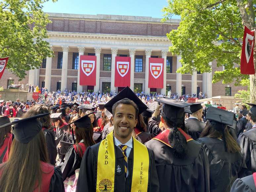
<path fill-rule="evenodd" d="M 137 125 L 136 110 L 129 104 L 119 104 L 113 117 L 114 135 L 119 141 L 128 141 Z M 123 143 L 124 144 L 124 143 Z"/>

